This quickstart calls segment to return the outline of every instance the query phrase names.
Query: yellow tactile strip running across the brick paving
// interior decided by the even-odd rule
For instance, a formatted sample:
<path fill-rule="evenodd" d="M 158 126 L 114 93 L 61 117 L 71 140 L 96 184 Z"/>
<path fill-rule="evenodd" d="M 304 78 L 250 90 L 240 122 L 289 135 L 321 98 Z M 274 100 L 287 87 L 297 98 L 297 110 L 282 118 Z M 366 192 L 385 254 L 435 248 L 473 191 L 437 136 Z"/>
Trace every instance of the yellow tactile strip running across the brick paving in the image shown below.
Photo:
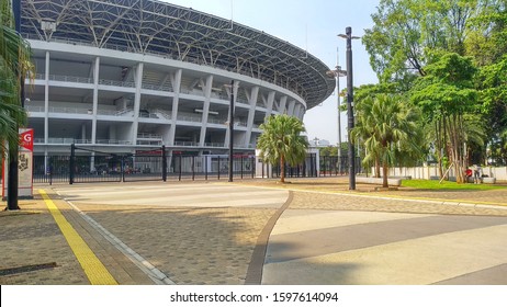
<path fill-rule="evenodd" d="M 65 239 L 81 264 L 81 268 L 90 283 L 92 285 L 117 285 L 117 282 L 108 269 L 105 269 L 104 264 L 102 264 L 102 262 L 97 258 L 70 223 L 67 221 L 60 211 L 56 207 L 55 203 L 53 203 L 52 198 L 49 198 L 46 191 L 38 190 L 38 193 L 44 198 L 49 213 L 64 234 Z"/>

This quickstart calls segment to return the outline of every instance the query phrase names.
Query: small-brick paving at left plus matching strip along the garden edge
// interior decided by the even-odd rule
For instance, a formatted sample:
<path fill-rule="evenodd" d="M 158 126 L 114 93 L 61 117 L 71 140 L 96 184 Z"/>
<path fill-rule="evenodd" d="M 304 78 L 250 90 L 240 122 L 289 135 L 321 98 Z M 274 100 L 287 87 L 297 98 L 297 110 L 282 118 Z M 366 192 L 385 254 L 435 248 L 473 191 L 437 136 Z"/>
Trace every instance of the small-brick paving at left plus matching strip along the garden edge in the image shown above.
<path fill-rule="evenodd" d="M 291 181 L 279 184 L 273 180 L 246 180 L 233 184 L 295 190 L 291 209 L 507 215 L 507 189 L 438 193 L 414 190 L 373 192 L 371 185 L 358 184 L 358 191 L 350 193 L 343 178 Z M 45 189 L 52 191 L 50 186 Z M 84 221 L 79 213 L 58 200 L 56 194 L 50 197 L 120 284 L 154 283 Z M 421 197 L 428 200 L 421 201 Z M 416 198 L 418 201 L 413 201 Z M 451 203 L 443 204 L 444 201 Z M 20 207 L 21 212 L 0 213 L 0 284 L 89 284 L 38 195 L 35 200 L 20 201 Z M 277 212 L 273 207 L 177 208 L 101 204 L 80 205 L 79 208 L 174 283 L 214 285 L 245 283 L 258 237 Z M 56 263 L 56 268 L 21 273 L 10 271 L 47 263 Z"/>

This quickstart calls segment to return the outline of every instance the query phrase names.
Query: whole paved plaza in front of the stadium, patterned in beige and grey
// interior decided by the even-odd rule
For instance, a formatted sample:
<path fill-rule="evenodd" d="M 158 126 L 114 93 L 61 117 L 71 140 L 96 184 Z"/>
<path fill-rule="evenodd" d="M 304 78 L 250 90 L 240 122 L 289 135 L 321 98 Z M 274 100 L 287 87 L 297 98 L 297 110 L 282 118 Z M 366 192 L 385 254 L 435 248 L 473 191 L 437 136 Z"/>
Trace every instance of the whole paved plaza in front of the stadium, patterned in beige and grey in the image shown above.
<path fill-rule="evenodd" d="M 100 268 L 135 285 L 507 284 L 507 189 L 347 190 L 346 178 L 38 185 L 0 214 L 0 284 L 100 284 Z"/>

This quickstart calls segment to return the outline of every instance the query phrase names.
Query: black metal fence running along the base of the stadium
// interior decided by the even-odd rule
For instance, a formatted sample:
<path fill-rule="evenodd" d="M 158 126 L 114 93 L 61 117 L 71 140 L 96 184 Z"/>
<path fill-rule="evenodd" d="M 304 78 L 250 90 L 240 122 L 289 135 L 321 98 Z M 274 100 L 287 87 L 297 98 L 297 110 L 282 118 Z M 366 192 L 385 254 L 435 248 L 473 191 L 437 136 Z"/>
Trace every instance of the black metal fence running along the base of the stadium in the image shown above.
<path fill-rule="evenodd" d="M 185 156 L 167 155 L 166 148 L 135 154 L 112 154 L 71 147 L 70 155 L 37 156 L 33 159 L 34 183 L 68 182 L 134 182 L 134 181 L 183 181 L 228 179 L 228 156 L 206 155 Z M 319 167 L 317 167 L 319 166 Z M 360 169 L 358 158 L 357 172 Z M 262 167 L 262 178 L 267 173 Z M 319 158 L 309 154 L 297 167 L 285 166 L 288 178 L 333 177 L 348 173 L 347 157 Z M 258 174 L 261 175 L 261 174 Z M 256 158 L 235 156 L 233 158 L 233 178 L 256 177 Z M 272 168 L 272 177 L 280 177 L 280 167 Z"/>

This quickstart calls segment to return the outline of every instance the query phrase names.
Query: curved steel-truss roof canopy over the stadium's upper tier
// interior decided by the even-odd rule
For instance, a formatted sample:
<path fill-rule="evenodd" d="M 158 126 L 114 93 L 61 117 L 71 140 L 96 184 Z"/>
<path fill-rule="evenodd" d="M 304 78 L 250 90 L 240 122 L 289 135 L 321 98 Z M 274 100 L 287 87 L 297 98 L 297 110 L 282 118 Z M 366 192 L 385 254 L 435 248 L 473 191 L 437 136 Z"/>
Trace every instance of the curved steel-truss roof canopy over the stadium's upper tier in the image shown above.
<path fill-rule="evenodd" d="M 275 83 L 311 109 L 335 90 L 305 50 L 233 21 L 156 0 L 21 0 L 31 39 L 65 39 L 209 65 Z"/>

